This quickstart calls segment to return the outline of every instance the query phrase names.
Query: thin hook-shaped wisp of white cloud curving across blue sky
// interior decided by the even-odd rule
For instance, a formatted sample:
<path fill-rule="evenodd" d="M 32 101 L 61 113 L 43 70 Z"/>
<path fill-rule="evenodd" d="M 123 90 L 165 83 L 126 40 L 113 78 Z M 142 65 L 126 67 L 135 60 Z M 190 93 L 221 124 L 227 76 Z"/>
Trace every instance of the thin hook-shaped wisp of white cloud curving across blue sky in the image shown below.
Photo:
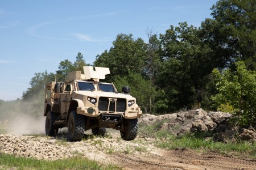
<path fill-rule="evenodd" d="M 121 11 L 121 12 L 123 12 L 123 11 Z M 96 18 L 96 17 L 104 17 L 104 16 L 113 16 L 113 15 L 117 15 L 117 14 L 119 14 L 119 12 L 108 12 L 108 13 L 104 13 L 104 14 L 88 15 L 88 16 L 81 16 L 81 17 L 75 17 L 75 18 L 66 18 L 66 19 L 56 20 L 56 21 L 52 21 L 52 22 L 45 22 L 45 23 L 40 23 L 40 24 L 34 25 L 32 27 L 28 27 L 26 29 L 26 32 L 31 36 L 40 37 L 40 38 L 43 38 L 43 39 L 73 40 L 73 39 L 61 39 L 61 38 L 56 38 L 56 37 L 42 36 L 42 35 L 39 35 L 37 33 L 37 30 L 40 29 L 40 28 L 46 27 L 48 25 L 52 25 L 52 24 L 56 24 L 56 23 L 60 23 L 60 22 L 67 22 L 69 20 L 77 20 L 77 19 L 85 19 L 85 18 Z"/>

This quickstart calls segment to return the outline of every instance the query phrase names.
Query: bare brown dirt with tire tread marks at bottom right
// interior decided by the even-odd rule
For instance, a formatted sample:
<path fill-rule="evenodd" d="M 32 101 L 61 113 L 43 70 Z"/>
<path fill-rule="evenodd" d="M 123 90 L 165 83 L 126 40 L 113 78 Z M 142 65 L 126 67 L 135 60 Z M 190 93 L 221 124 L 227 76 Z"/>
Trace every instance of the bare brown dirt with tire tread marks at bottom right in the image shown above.
<path fill-rule="evenodd" d="M 256 160 L 238 159 L 215 153 L 198 154 L 188 149 L 146 155 L 112 154 L 124 169 L 256 169 Z"/>

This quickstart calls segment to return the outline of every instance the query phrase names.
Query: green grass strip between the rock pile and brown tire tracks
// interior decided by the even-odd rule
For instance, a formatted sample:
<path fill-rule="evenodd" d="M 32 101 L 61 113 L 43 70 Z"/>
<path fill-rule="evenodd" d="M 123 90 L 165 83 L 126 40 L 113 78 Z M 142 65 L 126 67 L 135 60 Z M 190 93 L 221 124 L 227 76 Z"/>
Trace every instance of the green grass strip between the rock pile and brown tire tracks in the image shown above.
<path fill-rule="evenodd" d="M 212 132 L 197 132 L 183 135 L 172 135 L 170 130 L 161 130 L 160 127 L 165 121 L 156 122 L 153 125 L 139 124 L 139 135 L 144 138 L 156 138 L 156 146 L 175 150 L 178 148 L 191 148 L 200 152 L 218 152 L 225 155 L 247 157 L 256 159 L 256 142 L 246 141 L 213 141 Z"/>

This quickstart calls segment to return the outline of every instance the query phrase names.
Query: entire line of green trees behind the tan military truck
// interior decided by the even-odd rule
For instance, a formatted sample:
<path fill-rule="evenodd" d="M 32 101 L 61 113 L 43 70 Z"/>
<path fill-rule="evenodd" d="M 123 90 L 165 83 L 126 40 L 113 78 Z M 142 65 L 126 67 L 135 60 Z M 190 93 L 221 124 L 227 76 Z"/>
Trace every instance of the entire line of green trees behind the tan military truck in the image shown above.
<path fill-rule="evenodd" d="M 243 88 L 239 82 L 245 76 L 232 77 L 243 73 L 253 75 L 256 71 L 256 0 L 220 0 L 210 9 L 212 19 L 205 19 L 199 28 L 181 22 L 176 27 L 170 25 L 159 35 L 148 28 L 147 41 L 120 33 L 110 49 L 96 56 L 92 66 L 109 67 L 111 74 L 105 81 L 113 82 L 119 92 L 122 86 L 130 86 L 131 95 L 147 113 L 204 108 L 228 109 L 241 116 L 246 110 L 243 108 L 246 104 L 242 103 L 247 103 L 249 117 L 253 118 L 255 104 L 248 104 L 252 96 L 246 96 L 245 89 L 255 91 L 255 84 Z M 26 108 L 27 112 L 37 113 L 38 108 L 43 108 L 44 84 L 54 80 L 55 74 L 61 82 L 67 79 L 70 71 L 82 70 L 82 66 L 88 65 L 79 52 L 73 63 L 68 59 L 60 61 L 56 73 L 35 73 L 31 87 L 21 99 L 34 103 Z M 238 73 L 241 67 L 249 72 Z M 244 84 L 255 80 L 254 76 L 247 77 Z M 233 94 L 237 97 L 230 95 L 226 99 L 224 79 L 237 81 L 242 92 L 238 90 Z M 238 99 L 240 105 L 231 101 Z"/>

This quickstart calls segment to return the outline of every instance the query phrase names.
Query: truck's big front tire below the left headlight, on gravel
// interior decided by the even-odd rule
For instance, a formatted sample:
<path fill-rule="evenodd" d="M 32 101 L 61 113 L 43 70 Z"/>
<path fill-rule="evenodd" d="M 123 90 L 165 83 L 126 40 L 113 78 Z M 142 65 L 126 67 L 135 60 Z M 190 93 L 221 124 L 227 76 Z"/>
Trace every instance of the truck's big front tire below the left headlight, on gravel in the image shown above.
<path fill-rule="evenodd" d="M 84 136 L 85 118 L 76 111 L 71 111 L 68 118 L 68 137 L 71 141 L 81 141 Z"/>

